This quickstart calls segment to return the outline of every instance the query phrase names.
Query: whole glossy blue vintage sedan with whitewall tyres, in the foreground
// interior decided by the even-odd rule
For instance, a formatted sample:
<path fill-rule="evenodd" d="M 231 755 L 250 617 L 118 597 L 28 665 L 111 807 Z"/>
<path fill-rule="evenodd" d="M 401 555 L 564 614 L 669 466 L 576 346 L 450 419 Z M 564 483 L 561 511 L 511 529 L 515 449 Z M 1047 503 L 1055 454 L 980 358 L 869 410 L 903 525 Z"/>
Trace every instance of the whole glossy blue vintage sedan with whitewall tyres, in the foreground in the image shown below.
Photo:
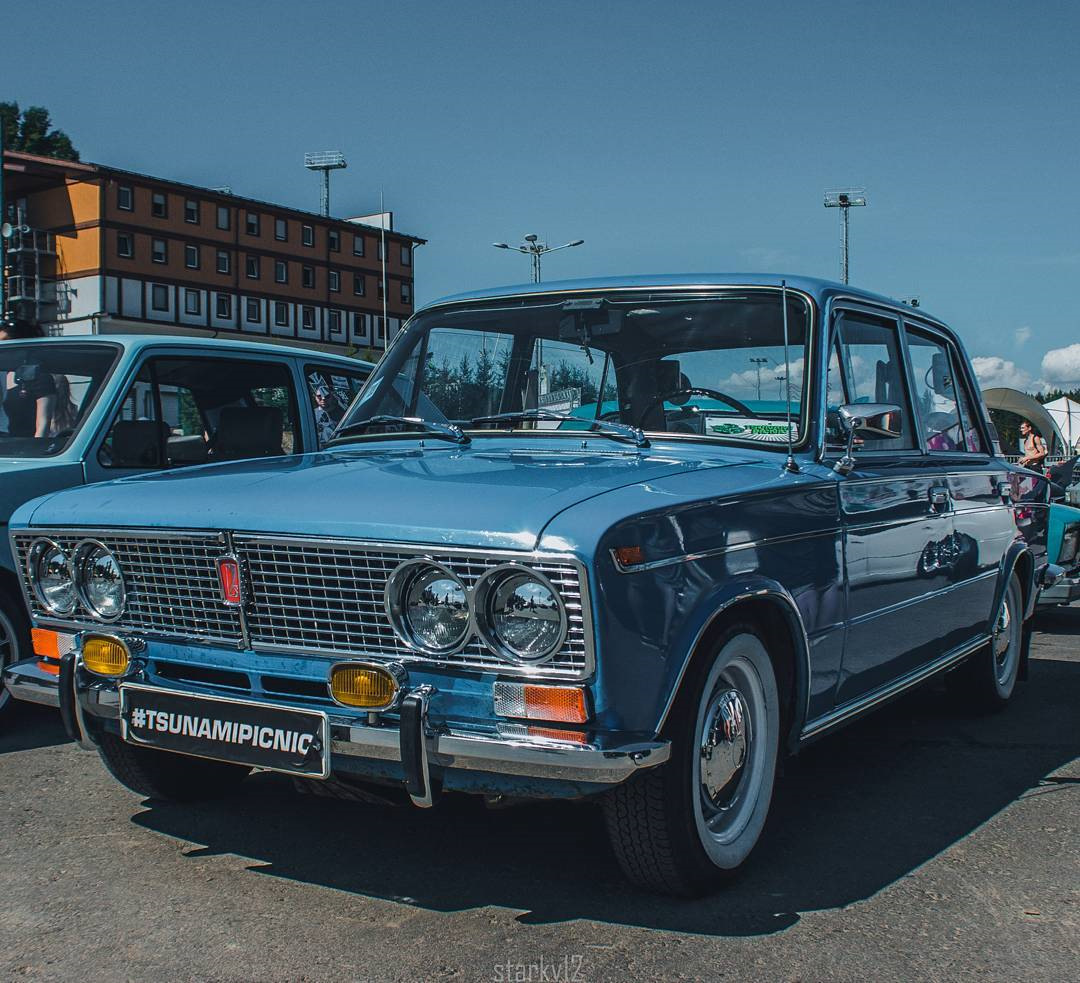
<path fill-rule="evenodd" d="M 494 289 L 419 312 L 326 449 L 60 491 L 12 542 L 136 792 L 595 796 L 631 879 L 693 893 L 780 755 L 1023 676 L 1047 486 L 976 393 L 944 324 L 840 284 Z"/>

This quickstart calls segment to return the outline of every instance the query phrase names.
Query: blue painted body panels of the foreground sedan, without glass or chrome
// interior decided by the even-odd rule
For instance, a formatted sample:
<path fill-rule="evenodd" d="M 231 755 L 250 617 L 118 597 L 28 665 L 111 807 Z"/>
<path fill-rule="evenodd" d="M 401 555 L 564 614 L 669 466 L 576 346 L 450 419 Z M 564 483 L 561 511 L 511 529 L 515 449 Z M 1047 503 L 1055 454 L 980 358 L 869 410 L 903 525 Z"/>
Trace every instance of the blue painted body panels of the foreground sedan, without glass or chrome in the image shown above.
<path fill-rule="evenodd" d="M 775 288 L 780 280 L 604 278 L 476 292 L 432 307 L 576 292 Z M 822 358 L 834 312 L 858 304 L 897 325 L 915 321 L 950 341 L 955 335 L 921 310 L 842 284 L 788 278 L 787 285 L 811 301 L 814 317 L 810 428 L 795 472 L 782 468 L 782 446 L 692 436 L 656 435 L 649 447 L 573 430 L 474 433 L 468 446 L 387 436 L 59 491 L 22 508 L 13 525 L 211 528 L 571 553 L 588 570 L 592 598 L 596 666 L 584 681 L 591 733 L 654 736 L 723 614 L 752 615 L 788 638 L 781 675 L 797 741 L 808 724 L 872 702 L 899 677 L 984 637 L 1008 557 L 1025 551 L 1032 570 L 1045 562 L 1045 509 L 1037 480 L 989 454 L 860 453 L 854 471 L 836 473 L 837 455 L 824 446 Z M 966 358 L 963 371 L 972 383 Z M 977 422 L 985 431 L 984 413 Z M 1002 481 L 1026 503 L 1002 502 Z M 934 511 L 931 493 L 940 486 L 948 506 Z M 617 564 L 612 551 L 621 547 L 639 548 L 644 563 Z M 275 699 L 282 697 L 266 677 L 314 683 L 328 665 L 303 652 L 271 657 L 152 639 L 148 658 L 151 673 L 171 661 L 245 673 L 251 692 Z M 414 683 L 435 687 L 436 724 L 494 722 L 496 673 L 430 663 L 409 672 Z"/>

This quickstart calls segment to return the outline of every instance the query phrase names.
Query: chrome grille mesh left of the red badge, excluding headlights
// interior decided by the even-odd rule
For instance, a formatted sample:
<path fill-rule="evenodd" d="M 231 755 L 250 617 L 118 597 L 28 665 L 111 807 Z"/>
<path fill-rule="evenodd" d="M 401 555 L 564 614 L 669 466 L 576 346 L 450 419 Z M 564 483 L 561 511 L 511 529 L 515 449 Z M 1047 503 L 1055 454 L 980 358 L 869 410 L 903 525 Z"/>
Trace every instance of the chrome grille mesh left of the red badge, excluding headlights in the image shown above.
<path fill-rule="evenodd" d="M 26 595 L 42 622 L 66 623 L 51 615 L 30 590 L 26 556 L 41 537 L 53 540 L 68 556 L 84 539 L 108 547 L 124 573 L 127 604 L 118 625 L 132 631 L 235 644 L 241 635 L 240 612 L 221 602 L 215 558 L 225 551 L 218 533 L 121 533 L 117 530 L 35 530 L 13 537 L 15 558 L 26 583 Z M 86 627 L 89 616 L 72 616 Z"/>

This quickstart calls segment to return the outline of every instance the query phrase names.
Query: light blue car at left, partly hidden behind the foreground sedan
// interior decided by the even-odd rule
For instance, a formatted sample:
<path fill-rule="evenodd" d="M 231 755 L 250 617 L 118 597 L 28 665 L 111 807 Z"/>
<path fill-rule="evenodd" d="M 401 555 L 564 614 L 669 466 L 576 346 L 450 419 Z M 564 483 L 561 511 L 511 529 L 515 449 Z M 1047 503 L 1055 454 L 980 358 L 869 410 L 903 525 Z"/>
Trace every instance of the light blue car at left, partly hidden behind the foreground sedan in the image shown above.
<path fill-rule="evenodd" d="M 136 335 L 0 344 L 0 523 L 49 491 L 147 471 L 313 450 L 372 365 L 245 341 Z M 57 704 L 70 633 L 31 639 L 0 541 L 0 714 L 12 697 Z M 37 651 L 35 651 L 37 649 Z"/>

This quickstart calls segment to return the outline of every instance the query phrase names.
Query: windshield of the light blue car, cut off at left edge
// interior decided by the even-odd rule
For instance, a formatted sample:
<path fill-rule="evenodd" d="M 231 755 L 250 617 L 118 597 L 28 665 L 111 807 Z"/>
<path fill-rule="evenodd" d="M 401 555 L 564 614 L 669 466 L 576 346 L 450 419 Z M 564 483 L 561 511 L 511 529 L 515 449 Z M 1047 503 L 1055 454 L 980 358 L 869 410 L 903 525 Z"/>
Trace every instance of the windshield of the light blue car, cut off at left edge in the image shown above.
<path fill-rule="evenodd" d="M 119 353 L 112 345 L 0 342 L 0 457 L 59 454 Z"/>

